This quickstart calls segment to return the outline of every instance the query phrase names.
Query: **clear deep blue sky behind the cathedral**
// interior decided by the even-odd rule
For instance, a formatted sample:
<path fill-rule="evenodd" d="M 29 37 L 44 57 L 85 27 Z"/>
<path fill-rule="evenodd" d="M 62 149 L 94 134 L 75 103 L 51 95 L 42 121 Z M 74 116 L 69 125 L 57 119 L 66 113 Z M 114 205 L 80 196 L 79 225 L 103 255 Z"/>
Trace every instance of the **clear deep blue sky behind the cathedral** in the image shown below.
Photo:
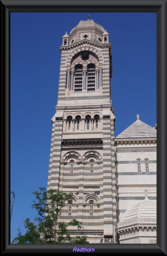
<path fill-rule="evenodd" d="M 89 13 L 89 12 L 88 12 Z M 115 136 L 136 121 L 156 123 L 156 13 L 90 13 L 112 44 Z M 62 36 L 86 13 L 11 13 L 11 238 L 36 211 L 31 191 L 47 187 L 51 118 L 57 104 Z"/>

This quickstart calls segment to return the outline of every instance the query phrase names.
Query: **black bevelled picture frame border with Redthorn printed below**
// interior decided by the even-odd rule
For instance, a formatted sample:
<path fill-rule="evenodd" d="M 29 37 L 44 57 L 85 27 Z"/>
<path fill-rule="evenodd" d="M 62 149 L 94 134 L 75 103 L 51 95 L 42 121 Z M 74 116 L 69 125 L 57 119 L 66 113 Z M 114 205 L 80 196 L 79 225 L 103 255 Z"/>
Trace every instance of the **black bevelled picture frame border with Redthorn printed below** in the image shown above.
<path fill-rule="evenodd" d="M 166 86 L 167 0 L 1 0 L 1 254 L 72 253 L 73 244 L 10 244 L 10 12 L 157 13 L 157 244 L 89 244 L 94 254 L 167 255 Z M 77 247 L 84 247 L 80 245 Z M 84 253 L 83 253 L 84 254 Z"/>

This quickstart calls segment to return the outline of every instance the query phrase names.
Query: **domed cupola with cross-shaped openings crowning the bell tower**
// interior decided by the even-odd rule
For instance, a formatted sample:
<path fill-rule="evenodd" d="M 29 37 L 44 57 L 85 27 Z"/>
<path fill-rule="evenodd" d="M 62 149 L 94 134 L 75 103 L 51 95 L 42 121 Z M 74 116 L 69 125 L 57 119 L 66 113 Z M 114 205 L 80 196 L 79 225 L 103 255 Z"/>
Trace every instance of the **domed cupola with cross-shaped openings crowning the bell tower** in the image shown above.
<path fill-rule="evenodd" d="M 93 20 L 89 20 L 88 16 L 88 20 L 81 20 L 78 25 L 71 30 L 69 34 L 69 44 L 73 44 L 84 39 L 102 43 L 102 35 L 104 32 L 104 28 Z"/>

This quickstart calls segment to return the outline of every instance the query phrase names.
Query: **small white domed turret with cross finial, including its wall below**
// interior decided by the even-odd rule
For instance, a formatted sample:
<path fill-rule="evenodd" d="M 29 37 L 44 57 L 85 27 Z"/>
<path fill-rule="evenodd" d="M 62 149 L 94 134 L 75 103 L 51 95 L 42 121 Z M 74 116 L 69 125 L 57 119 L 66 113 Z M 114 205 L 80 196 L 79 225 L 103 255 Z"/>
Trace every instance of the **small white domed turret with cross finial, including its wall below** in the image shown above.
<path fill-rule="evenodd" d="M 120 243 L 129 239 L 137 244 L 156 243 L 156 203 L 148 199 L 147 189 L 144 191 L 145 199 L 132 205 L 117 223 Z"/>

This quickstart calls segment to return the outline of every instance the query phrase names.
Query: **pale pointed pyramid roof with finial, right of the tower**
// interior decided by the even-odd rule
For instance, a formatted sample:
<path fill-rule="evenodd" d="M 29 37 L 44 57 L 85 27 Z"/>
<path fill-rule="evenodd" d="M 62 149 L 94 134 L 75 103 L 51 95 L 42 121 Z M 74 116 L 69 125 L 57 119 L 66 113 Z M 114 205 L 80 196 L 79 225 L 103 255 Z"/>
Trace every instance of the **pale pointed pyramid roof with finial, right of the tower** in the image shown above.
<path fill-rule="evenodd" d="M 137 115 L 137 120 L 121 132 L 116 139 L 123 138 L 155 138 L 156 129 L 148 124 L 143 123 L 139 120 L 139 115 Z"/>

